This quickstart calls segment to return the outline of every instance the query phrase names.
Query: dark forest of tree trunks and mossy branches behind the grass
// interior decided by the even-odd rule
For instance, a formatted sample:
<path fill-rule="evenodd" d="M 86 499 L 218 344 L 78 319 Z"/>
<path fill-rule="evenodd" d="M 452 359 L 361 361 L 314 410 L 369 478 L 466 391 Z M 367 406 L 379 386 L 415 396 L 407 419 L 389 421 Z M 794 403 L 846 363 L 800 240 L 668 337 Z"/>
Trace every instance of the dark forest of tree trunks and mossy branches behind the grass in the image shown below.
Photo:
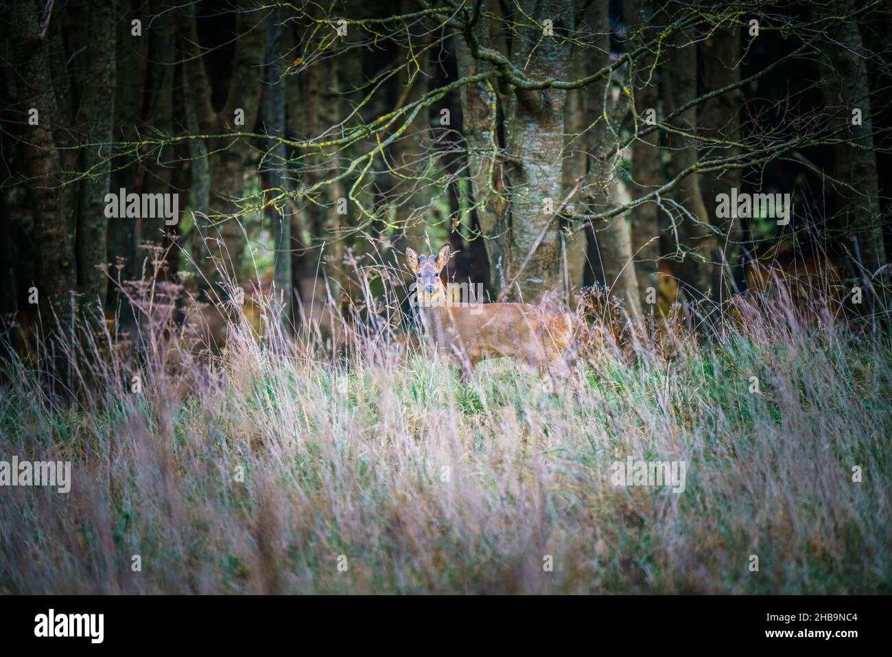
<path fill-rule="evenodd" d="M 718 302 L 762 259 L 830 263 L 881 317 L 890 9 L 6 4 L 0 312 L 101 304 L 129 330 L 123 287 L 219 303 L 230 279 L 300 331 L 364 266 L 449 242 L 450 279 L 491 299 L 600 285 L 635 314 L 662 275 Z M 732 187 L 791 194 L 794 219 L 718 218 Z M 178 194 L 178 222 L 106 218 L 121 188 Z"/>

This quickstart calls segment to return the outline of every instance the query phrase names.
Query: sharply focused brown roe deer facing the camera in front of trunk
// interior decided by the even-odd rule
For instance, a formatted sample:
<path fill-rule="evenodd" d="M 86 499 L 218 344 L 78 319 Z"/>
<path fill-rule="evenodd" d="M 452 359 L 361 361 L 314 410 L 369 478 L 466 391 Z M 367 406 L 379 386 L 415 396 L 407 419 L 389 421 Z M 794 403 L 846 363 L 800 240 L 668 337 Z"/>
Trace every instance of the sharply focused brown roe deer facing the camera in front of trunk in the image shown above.
<path fill-rule="evenodd" d="M 406 248 L 416 277 L 418 311 L 437 351 L 458 358 L 462 378 L 484 358 L 515 358 L 541 375 L 566 374 L 566 353 L 573 327 L 568 313 L 553 313 L 531 304 L 480 304 L 451 300 L 440 279 L 450 259 L 450 245 L 436 256 Z M 549 378 L 549 389 L 554 390 Z"/>

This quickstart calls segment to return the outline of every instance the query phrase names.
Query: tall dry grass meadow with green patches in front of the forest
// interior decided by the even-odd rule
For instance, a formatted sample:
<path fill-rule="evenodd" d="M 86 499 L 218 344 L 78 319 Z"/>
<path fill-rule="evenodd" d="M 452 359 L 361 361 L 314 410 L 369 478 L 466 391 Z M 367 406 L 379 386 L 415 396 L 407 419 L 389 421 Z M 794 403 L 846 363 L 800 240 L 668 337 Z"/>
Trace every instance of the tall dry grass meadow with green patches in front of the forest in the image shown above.
<path fill-rule="evenodd" d="M 7 355 L 0 459 L 74 481 L 0 488 L 0 591 L 892 589 L 888 336 L 743 302 L 705 342 L 600 331 L 549 395 L 510 361 L 459 384 L 399 296 L 342 318 L 343 350 L 244 319 L 223 353 L 169 320 L 62 341 L 74 403 L 45 353 Z M 687 462 L 685 491 L 613 486 L 629 455 Z"/>

